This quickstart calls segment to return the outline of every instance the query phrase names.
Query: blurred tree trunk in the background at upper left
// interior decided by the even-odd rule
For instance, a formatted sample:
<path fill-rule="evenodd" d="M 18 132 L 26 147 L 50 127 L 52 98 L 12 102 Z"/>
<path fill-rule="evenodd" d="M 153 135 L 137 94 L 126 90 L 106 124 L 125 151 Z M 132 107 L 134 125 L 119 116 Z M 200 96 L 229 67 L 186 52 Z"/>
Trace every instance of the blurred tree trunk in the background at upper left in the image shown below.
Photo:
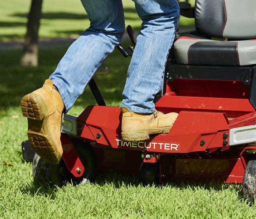
<path fill-rule="evenodd" d="M 32 0 L 27 22 L 27 33 L 23 54 L 20 59 L 22 66 L 38 65 L 38 29 L 41 18 L 42 0 Z"/>

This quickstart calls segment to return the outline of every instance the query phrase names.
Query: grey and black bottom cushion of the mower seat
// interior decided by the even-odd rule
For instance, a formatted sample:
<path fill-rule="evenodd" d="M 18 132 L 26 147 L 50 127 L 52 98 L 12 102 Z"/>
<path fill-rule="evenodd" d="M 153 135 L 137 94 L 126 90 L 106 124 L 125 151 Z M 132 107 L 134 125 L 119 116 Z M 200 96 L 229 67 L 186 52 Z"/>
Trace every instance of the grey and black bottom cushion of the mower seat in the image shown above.
<path fill-rule="evenodd" d="M 218 41 L 180 37 L 174 43 L 177 63 L 242 66 L 256 64 L 256 39 Z"/>

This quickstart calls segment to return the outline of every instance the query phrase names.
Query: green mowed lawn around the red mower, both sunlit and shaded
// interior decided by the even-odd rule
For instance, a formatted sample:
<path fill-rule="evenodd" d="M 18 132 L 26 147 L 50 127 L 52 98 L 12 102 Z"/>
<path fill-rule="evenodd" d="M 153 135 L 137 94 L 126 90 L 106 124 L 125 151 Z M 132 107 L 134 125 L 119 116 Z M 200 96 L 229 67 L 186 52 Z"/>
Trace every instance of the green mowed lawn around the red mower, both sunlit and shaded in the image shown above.
<path fill-rule="evenodd" d="M 138 30 L 140 20 L 133 2 L 123 3 L 126 23 Z M 0 2 L 0 42 L 23 38 L 29 7 L 28 0 Z M 184 26 L 193 23 L 182 22 Z M 43 1 L 40 37 L 75 38 L 88 25 L 80 1 Z M 241 184 L 212 181 L 144 186 L 135 175 L 107 172 L 83 186 L 35 185 L 32 164 L 22 157 L 27 120 L 22 117 L 20 99 L 42 86 L 66 50 L 40 48 L 38 67 L 20 67 L 22 49 L 0 48 L 0 218 L 255 218 L 256 205 L 244 200 Z M 114 51 L 103 64 L 109 73 L 95 76 L 107 105 L 120 105 L 129 61 Z M 78 116 L 94 104 L 86 88 L 69 114 Z"/>

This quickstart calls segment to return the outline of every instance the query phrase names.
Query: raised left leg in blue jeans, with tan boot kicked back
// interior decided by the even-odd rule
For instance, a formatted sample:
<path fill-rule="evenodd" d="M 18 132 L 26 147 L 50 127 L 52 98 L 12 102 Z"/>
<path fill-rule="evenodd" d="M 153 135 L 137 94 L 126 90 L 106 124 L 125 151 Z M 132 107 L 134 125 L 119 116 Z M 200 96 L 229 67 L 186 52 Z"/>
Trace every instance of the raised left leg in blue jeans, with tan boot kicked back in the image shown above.
<path fill-rule="evenodd" d="M 31 146 L 42 159 L 54 164 L 59 163 L 63 153 L 60 122 L 64 107 L 72 107 L 124 32 L 121 0 L 81 1 L 91 26 L 69 47 L 44 87 L 21 101 Z"/>

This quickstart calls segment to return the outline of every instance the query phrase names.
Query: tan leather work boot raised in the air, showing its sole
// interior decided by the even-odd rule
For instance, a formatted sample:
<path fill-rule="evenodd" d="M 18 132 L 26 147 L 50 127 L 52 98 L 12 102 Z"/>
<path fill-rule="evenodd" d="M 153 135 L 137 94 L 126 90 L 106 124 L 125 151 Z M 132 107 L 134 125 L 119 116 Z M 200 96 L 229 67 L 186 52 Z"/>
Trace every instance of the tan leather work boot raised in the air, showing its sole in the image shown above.
<path fill-rule="evenodd" d="M 27 136 L 34 151 L 48 163 L 59 163 L 63 154 L 60 124 L 64 103 L 60 93 L 53 89 L 52 80 L 47 79 L 44 87 L 25 95 L 21 109 L 27 117 Z"/>

